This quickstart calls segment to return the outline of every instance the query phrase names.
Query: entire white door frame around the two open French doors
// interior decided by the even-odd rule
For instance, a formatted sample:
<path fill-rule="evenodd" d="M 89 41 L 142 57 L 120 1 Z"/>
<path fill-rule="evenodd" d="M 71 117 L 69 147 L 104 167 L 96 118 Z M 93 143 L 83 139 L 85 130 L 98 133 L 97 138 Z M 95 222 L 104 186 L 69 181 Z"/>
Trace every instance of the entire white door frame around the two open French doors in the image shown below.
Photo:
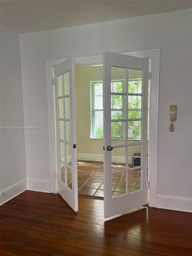
<path fill-rule="evenodd" d="M 121 53 L 151 59 L 151 86 L 149 107 L 149 206 L 157 207 L 157 155 L 158 155 L 158 101 L 160 49 Z M 53 67 L 67 58 L 46 60 L 46 84 L 49 128 L 50 190 L 57 193 L 55 103 L 52 85 Z M 75 57 L 75 66 L 102 64 L 103 55 Z"/>

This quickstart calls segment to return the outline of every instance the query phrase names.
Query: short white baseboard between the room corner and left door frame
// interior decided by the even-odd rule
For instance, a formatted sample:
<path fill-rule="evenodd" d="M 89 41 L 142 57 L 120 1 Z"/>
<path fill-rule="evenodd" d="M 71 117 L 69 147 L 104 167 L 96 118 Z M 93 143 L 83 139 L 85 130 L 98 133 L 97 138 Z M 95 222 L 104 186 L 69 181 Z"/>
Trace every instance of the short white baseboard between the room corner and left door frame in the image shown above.
<path fill-rule="evenodd" d="M 27 178 L 27 190 L 51 193 L 50 180 Z"/>

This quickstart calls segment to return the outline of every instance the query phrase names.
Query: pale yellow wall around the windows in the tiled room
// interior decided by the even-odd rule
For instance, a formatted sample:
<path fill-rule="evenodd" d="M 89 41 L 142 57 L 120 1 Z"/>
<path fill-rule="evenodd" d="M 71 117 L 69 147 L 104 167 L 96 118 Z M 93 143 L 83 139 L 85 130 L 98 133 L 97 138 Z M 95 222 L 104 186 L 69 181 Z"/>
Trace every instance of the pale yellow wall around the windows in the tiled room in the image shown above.
<path fill-rule="evenodd" d="M 140 71 L 130 70 L 129 79 L 141 78 Z M 103 155 L 103 139 L 91 137 L 90 81 L 103 80 L 103 66 L 76 67 L 76 122 L 77 153 Z M 126 79 L 126 69 L 113 68 L 112 80 Z M 130 141 L 134 142 L 134 141 Z M 123 142 L 124 143 L 124 142 Z M 122 144 L 122 140 L 113 140 L 113 145 Z M 140 146 L 130 146 L 128 156 L 140 152 Z M 123 148 L 113 150 L 112 155 L 125 156 Z M 85 159 L 86 160 L 86 159 Z"/>

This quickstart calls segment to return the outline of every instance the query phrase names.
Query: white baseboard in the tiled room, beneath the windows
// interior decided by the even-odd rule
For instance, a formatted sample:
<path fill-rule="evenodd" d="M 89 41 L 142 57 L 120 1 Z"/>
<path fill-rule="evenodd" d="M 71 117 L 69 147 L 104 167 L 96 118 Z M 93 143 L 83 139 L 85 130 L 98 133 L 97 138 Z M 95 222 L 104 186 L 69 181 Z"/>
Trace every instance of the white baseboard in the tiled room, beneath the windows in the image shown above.
<path fill-rule="evenodd" d="M 88 161 L 101 161 L 103 162 L 103 155 L 96 155 L 96 154 L 84 154 L 84 153 L 77 153 L 78 160 L 88 160 Z M 124 156 L 111 156 L 112 162 L 116 163 L 125 163 Z M 132 157 L 128 157 L 128 164 L 132 164 Z"/>

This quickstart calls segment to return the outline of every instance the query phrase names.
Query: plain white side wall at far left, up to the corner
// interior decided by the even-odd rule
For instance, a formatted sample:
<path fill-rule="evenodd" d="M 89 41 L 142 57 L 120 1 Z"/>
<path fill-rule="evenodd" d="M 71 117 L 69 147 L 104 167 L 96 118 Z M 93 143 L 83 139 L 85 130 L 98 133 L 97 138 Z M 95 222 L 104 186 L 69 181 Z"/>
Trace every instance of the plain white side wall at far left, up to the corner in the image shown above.
<path fill-rule="evenodd" d="M 19 34 L 1 26 L 1 126 L 24 126 Z M 1 129 L 2 202 L 26 189 L 24 130 Z M 22 185 L 13 185 L 20 183 Z M 12 190 L 14 193 L 12 194 Z M 11 195 L 10 195 L 11 194 Z"/>

